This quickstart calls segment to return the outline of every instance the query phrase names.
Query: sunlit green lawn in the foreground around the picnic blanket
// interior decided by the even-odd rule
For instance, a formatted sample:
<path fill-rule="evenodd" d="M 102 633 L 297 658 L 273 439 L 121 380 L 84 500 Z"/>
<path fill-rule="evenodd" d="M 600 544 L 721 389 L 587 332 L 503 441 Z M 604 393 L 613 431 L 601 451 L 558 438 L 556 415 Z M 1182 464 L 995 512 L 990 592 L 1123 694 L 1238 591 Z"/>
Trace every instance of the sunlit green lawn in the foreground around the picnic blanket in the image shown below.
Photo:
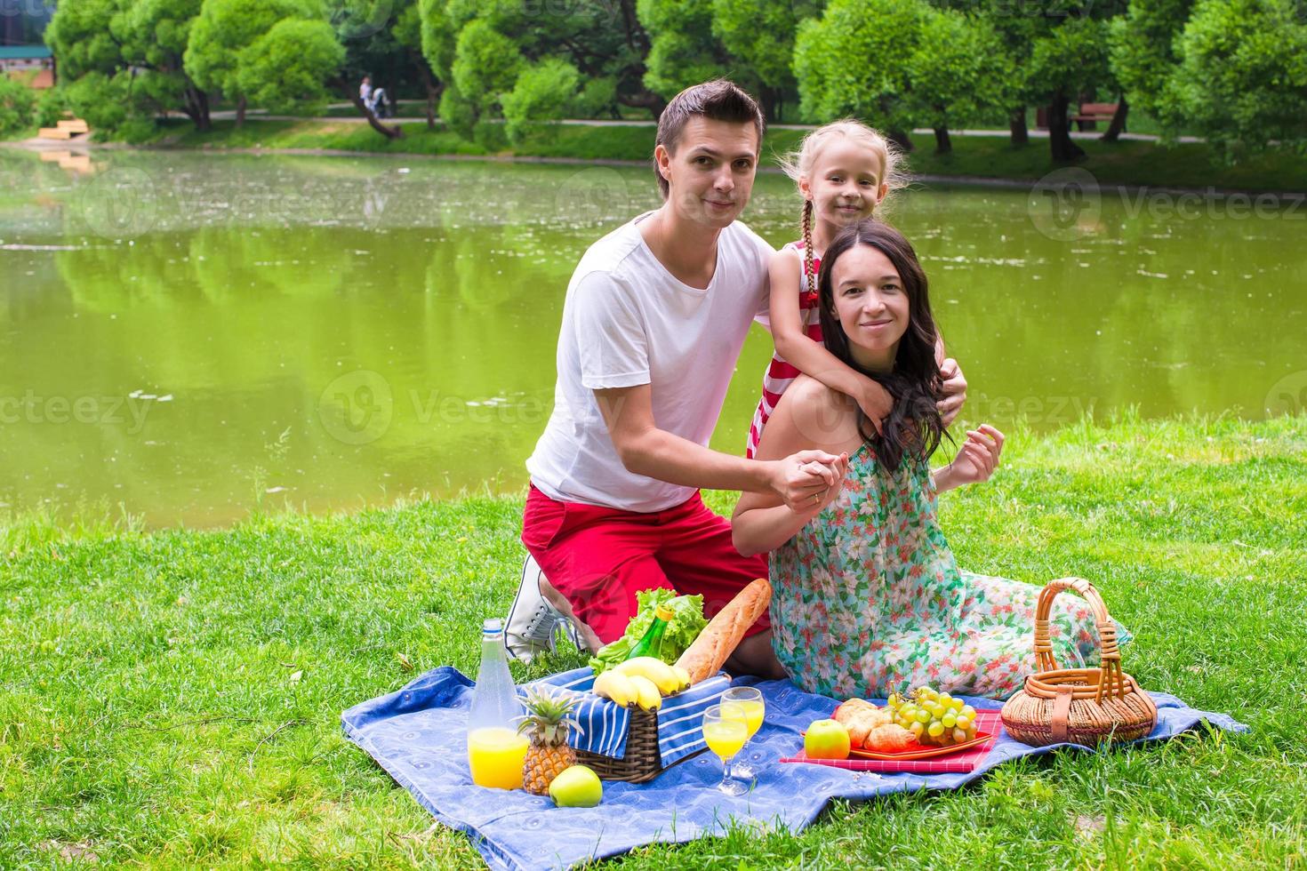
<path fill-rule="evenodd" d="M 741 831 L 622 867 L 1304 863 L 1307 417 L 1008 444 L 992 483 L 942 500 L 961 564 L 1091 578 L 1136 635 L 1125 666 L 1144 687 L 1252 731 L 1056 753 L 953 793 L 836 803 L 797 837 Z M 339 714 L 439 665 L 474 674 L 480 620 L 515 588 L 520 508 L 0 524 L 0 867 L 478 867 Z"/>

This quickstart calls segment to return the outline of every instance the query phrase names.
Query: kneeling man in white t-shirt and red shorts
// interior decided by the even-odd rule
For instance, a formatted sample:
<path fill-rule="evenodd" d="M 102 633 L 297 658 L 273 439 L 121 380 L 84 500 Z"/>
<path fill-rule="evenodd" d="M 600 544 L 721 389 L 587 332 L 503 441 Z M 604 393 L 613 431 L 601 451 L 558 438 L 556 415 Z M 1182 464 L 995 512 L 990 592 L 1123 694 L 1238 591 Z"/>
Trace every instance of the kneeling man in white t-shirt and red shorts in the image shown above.
<path fill-rule="evenodd" d="M 519 658 L 550 646 L 559 624 L 580 648 L 613 641 L 639 590 L 702 594 L 711 618 L 766 577 L 766 555 L 735 550 L 701 487 L 797 508 L 843 475 L 844 460 L 821 451 L 758 462 L 707 448 L 749 325 L 767 312 L 772 249 L 736 221 L 763 128 L 758 104 L 728 81 L 681 91 L 654 149 L 663 206 L 596 242 L 572 274 L 554 410 L 527 461 L 531 559 L 506 633 Z M 950 389 L 965 390 L 961 376 Z M 727 667 L 784 676 L 766 616 Z"/>

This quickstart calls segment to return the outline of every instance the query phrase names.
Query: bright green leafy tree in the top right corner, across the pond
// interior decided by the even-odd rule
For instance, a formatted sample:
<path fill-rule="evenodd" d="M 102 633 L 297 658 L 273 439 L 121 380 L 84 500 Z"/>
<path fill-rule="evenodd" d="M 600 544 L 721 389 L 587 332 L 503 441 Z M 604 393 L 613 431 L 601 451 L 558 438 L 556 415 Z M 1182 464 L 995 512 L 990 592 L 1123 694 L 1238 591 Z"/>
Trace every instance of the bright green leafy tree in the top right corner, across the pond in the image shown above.
<path fill-rule="evenodd" d="M 1158 106 L 1226 157 L 1307 146 L 1307 24 L 1291 0 L 1199 0 Z"/>

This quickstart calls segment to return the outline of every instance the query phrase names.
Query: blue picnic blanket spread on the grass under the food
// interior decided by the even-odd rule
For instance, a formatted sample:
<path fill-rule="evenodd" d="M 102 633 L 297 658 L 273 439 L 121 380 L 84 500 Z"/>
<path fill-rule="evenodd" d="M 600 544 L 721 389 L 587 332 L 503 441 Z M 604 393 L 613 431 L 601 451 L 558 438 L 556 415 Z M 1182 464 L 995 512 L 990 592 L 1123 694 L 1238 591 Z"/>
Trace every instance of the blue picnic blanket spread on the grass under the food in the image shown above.
<path fill-rule="evenodd" d="M 566 675 L 549 680 L 559 678 Z M 799 832 L 833 798 L 955 789 L 1009 759 L 1077 747 L 1029 747 L 1002 734 L 982 764 L 966 774 L 873 774 L 827 765 L 783 765 L 779 759 L 802 747 L 800 733 L 813 720 L 829 717 L 836 703 L 802 692 L 788 680 L 737 678 L 735 686 L 757 686 L 767 704 L 762 729 L 737 757 L 748 759 L 758 772 L 748 794 L 732 798 L 718 791 L 721 763 L 701 753 L 647 784 L 605 781 L 599 807 L 554 807 L 548 797 L 472 784 L 465 739 L 472 686 L 457 670 L 443 666 L 397 692 L 350 708 L 341 722 L 350 740 L 437 820 L 467 832 L 486 864 L 497 870 L 567 868 L 644 844 L 725 834 L 740 825 Z M 1204 720 L 1219 729 L 1247 730 L 1226 714 L 1195 710 L 1175 696 L 1151 695 L 1158 725 L 1144 740 L 1172 738 Z M 989 699 L 968 701 L 978 709 L 1001 706 Z"/>

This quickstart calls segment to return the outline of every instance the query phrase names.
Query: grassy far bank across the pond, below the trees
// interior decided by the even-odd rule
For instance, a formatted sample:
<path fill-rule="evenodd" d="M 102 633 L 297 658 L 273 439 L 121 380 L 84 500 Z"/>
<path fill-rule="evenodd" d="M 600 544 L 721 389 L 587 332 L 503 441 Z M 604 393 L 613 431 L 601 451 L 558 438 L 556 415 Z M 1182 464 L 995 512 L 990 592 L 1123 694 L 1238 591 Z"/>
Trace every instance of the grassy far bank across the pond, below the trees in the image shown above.
<path fill-rule="evenodd" d="M 247 120 L 240 129 L 231 120 L 216 120 L 213 129 L 196 131 L 190 121 L 161 124 L 150 136 L 133 142 L 139 148 L 255 149 L 260 151 L 358 153 L 463 157 L 519 157 L 575 161 L 612 161 L 647 165 L 654 151 L 655 128 L 647 124 L 557 124 L 542 125 L 520 145 L 510 148 L 501 129 L 477 142 L 438 125 L 403 125 L 404 135 L 387 140 L 366 124 L 346 120 Z M 775 167 L 775 155 L 796 146 L 800 128 L 771 129 L 763 144 L 765 166 Z M 1033 138 L 1013 149 L 1006 136 L 955 136 L 953 153 L 935 153 L 929 135 L 914 135 L 910 171 L 928 180 L 1036 182 L 1065 165 L 1048 157 L 1047 141 Z M 1307 192 L 1307 161 L 1290 154 L 1266 154 L 1246 163 L 1223 166 L 1213 161 L 1204 142 L 1163 148 L 1148 140 L 1103 142 L 1077 140 L 1087 157 L 1076 165 L 1089 171 L 1099 185 L 1159 187 L 1196 191 Z"/>

